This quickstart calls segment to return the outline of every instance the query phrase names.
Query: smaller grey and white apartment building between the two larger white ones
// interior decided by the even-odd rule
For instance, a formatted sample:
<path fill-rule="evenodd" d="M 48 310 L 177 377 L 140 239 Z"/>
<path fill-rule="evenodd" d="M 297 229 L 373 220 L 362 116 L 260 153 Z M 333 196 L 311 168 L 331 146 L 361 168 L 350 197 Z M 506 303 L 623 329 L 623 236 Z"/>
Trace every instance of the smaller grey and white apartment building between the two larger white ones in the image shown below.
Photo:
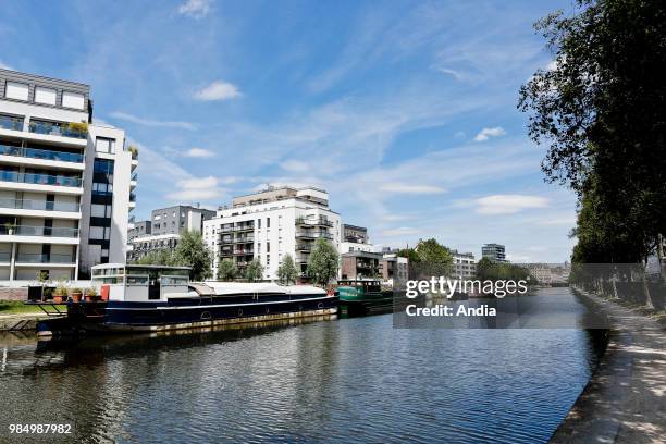
<path fill-rule="evenodd" d="M 153 210 L 149 221 L 137 222 L 134 229 L 130 230 L 127 237 L 131 239 L 131 246 L 127 250 L 127 260 L 138 260 L 152 251 L 173 252 L 181 239 L 181 233 L 184 231 L 201 233 L 203 221 L 214 215 L 215 212 L 212 210 L 188 205 Z"/>

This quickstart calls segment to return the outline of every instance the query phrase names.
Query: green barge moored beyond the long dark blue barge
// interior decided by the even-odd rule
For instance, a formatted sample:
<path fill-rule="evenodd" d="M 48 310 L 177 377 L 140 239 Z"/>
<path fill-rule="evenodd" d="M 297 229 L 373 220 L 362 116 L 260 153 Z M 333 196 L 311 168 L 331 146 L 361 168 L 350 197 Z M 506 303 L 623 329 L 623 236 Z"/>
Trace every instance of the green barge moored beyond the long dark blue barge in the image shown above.
<path fill-rule="evenodd" d="M 338 313 L 343 317 L 384 313 L 393 310 L 393 292 L 382 291 L 380 281 L 343 279 L 337 282 Z"/>

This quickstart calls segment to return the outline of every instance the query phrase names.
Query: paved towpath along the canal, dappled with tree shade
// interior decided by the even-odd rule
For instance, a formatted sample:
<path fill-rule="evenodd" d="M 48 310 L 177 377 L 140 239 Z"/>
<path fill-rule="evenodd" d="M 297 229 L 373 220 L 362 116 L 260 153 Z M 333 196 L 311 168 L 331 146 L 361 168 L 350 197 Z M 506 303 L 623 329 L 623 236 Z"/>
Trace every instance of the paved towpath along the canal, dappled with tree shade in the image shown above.
<path fill-rule="evenodd" d="M 608 346 L 551 443 L 663 443 L 666 331 L 613 301 L 576 293 L 607 316 Z"/>

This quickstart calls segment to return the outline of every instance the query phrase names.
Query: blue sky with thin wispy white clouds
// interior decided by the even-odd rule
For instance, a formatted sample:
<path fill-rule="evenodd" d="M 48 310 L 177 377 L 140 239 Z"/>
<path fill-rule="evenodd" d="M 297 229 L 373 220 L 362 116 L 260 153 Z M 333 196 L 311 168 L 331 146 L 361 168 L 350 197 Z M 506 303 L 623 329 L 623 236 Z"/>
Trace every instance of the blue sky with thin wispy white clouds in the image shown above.
<path fill-rule="evenodd" d="M 140 149 L 137 219 L 314 184 L 371 240 L 563 261 L 575 196 L 543 182 L 517 90 L 569 2 L 5 1 L 0 65 L 87 83 Z"/>

